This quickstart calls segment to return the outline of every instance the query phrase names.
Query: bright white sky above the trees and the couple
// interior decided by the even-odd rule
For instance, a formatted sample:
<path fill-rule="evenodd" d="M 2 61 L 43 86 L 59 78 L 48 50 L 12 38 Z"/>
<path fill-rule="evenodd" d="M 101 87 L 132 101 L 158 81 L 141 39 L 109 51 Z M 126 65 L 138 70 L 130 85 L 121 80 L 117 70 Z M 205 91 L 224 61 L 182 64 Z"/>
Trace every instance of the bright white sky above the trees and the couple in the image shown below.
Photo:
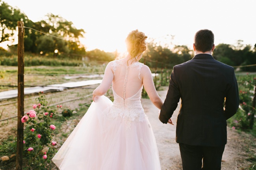
<path fill-rule="evenodd" d="M 256 44 L 255 0 L 3 0 L 30 20 L 59 15 L 84 29 L 87 50 L 125 51 L 124 40 L 134 29 L 149 38 L 192 47 L 199 29 L 210 29 L 215 45 Z M 82 4 L 81 4 L 82 2 Z M 25 25 L 26 26 L 26 25 Z M 175 35 L 171 40 L 171 36 Z"/>

